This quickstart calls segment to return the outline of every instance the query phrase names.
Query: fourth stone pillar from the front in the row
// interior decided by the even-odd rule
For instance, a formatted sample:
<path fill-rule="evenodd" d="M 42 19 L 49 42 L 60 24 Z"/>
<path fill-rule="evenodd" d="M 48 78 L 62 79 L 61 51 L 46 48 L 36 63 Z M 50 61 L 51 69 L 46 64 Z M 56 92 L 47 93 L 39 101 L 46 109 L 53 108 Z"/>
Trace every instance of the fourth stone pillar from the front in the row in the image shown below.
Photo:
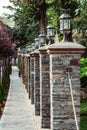
<path fill-rule="evenodd" d="M 34 104 L 34 56 L 30 53 L 30 99 Z"/>

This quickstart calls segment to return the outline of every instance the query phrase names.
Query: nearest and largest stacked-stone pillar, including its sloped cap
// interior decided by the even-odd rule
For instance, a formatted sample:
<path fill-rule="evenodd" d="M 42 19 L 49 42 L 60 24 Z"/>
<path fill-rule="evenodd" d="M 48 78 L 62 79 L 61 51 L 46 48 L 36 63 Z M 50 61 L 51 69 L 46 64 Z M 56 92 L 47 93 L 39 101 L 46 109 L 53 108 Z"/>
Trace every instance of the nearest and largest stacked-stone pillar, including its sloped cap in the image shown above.
<path fill-rule="evenodd" d="M 52 130 L 76 130 L 68 74 L 71 77 L 78 125 L 80 123 L 79 60 L 84 50 L 85 47 L 72 42 L 55 43 L 48 48 Z"/>

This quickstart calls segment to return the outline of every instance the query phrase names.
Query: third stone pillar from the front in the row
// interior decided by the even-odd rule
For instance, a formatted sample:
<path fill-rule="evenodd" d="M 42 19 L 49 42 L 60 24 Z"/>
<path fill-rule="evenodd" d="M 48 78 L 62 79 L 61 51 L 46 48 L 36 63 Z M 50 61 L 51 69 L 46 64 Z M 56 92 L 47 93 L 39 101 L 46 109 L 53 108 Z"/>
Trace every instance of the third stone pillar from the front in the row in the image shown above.
<path fill-rule="evenodd" d="M 34 56 L 34 99 L 35 99 L 35 115 L 40 115 L 40 66 L 39 52 L 35 51 Z"/>

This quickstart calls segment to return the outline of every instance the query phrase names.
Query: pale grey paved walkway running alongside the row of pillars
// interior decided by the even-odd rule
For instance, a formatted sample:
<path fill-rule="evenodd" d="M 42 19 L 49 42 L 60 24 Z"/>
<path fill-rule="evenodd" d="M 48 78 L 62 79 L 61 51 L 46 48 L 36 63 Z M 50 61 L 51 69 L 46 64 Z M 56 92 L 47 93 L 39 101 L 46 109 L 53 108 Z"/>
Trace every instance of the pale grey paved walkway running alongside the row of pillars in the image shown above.
<path fill-rule="evenodd" d="M 28 99 L 16 66 L 12 66 L 10 78 L 10 90 L 0 120 L 0 130 L 41 130 L 40 117 L 34 115 L 34 105 Z"/>

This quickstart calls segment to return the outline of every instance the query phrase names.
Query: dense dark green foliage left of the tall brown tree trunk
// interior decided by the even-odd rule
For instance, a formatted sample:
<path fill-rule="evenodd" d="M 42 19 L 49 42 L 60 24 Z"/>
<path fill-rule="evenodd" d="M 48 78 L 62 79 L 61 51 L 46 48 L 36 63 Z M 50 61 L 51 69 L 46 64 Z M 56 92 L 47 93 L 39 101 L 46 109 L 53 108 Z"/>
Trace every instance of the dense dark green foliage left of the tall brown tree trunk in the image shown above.
<path fill-rule="evenodd" d="M 12 33 L 13 40 L 16 41 L 18 47 L 31 44 L 38 35 L 38 21 L 34 20 L 34 11 L 31 5 L 23 4 L 14 15 L 16 25 L 12 29 Z"/>

